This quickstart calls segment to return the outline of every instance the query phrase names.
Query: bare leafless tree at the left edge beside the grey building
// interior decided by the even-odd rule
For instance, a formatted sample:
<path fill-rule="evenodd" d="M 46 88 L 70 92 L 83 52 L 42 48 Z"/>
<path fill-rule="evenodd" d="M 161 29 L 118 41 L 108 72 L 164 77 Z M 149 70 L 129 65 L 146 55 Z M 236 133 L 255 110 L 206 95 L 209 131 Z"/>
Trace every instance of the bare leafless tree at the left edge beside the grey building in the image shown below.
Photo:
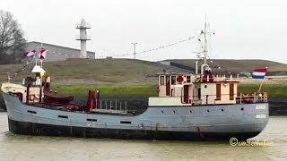
<path fill-rule="evenodd" d="M 25 43 L 23 31 L 13 19 L 13 14 L 0 10 L 0 63 L 18 63 L 22 59 Z"/>

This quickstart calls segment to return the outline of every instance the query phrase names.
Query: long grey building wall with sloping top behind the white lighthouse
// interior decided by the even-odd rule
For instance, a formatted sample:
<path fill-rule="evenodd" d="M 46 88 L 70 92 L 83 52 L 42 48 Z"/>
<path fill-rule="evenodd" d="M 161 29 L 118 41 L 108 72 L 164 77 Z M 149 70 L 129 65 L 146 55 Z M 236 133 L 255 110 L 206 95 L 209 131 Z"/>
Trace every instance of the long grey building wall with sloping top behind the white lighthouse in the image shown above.
<path fill-rule="evenodd" d="M 41 43 L 32 41 L 26 44 L 25 48 L 26 51 L 30 50 L 35 50 L 36 53 L 39 53 L 41 47 Z M 66 58 L 73 58 L 73 57 L 80 57 L 81 55 L 81 50 L 79 49 L 74 49 L 70 47 L 60 47 L 60 46 L 55 46 L 51 44 L 45 44 L 43 43 L 43 47 L 48 49 L 47 52 L 47 57 L 44 61 L 50 62 L 50 61 L 63 61 Z M 95 53 L 87 51 L 87 56 L 88 58 L 95 59 Z"/>

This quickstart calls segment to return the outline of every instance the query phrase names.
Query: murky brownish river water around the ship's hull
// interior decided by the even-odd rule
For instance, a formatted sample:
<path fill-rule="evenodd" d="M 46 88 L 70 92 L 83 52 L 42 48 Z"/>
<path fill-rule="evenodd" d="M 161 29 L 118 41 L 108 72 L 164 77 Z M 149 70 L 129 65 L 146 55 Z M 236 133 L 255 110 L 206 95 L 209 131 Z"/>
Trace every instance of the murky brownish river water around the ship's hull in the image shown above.
<path fill-rule="evenodd" d="M 0 160 L 287 160 L 287 116 L 272 116 L 249 146 L 229 141 L 35 137 L 8 131 L 0 113 Z M 258 143 L 259 142 L 259 143 Z M 257 143 L 257 144 L 256 144 Z M 268 143 L 263 146 L 260 143 Z M 250 146 L 251 145 L 251 146 Z"/>

